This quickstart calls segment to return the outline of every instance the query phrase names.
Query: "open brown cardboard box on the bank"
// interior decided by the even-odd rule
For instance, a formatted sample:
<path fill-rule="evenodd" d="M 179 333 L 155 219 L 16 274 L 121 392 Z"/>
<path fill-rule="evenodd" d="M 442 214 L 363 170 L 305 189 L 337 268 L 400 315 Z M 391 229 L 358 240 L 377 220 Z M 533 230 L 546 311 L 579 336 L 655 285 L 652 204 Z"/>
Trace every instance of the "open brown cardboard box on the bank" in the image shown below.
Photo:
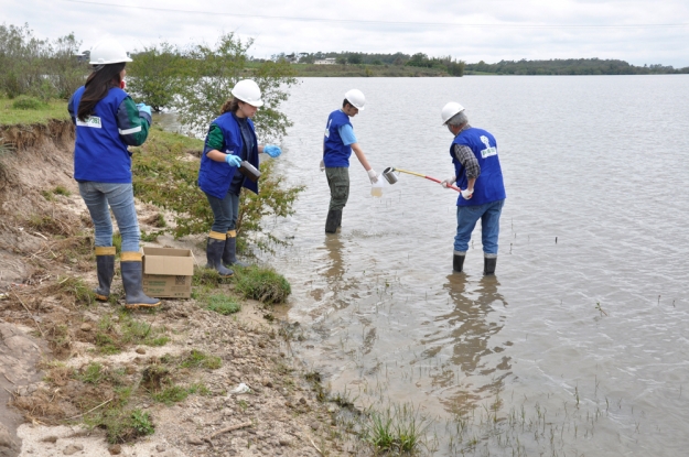
<path fill-rule="evenodd" d="M 155 298 L 189 298 L 192 295 L 194 258 L 189 249 L 141 248 L 143 293 Z"/>

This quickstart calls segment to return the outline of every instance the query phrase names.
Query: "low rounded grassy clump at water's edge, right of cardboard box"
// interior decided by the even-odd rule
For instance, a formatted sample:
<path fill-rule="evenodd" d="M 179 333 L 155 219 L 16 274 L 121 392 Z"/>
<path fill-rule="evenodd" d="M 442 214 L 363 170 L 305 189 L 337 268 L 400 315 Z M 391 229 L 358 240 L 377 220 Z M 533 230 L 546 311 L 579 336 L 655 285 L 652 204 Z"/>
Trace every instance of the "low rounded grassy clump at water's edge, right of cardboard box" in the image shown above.
<path fill-rule="evenodd" d="M 267 304 L 283 303 L 292 292 L 290 283 L 272 269 L 248 266 L 236 269 L 237 291 L 247 298 Z"/>

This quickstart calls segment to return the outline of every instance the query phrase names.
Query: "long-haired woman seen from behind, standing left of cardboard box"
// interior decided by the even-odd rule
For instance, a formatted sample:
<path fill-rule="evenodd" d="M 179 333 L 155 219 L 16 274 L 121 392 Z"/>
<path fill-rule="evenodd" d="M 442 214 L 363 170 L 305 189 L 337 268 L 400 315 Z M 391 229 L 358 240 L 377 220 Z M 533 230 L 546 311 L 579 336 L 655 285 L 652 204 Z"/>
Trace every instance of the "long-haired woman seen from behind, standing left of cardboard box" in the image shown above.
<path fill-rule="evenodd" d="M 139 222 L 131 185 L 131 153 L 143 144 L 151 124 L 151 107 L 134 105 L 125 86 L 125 65 L 131 62 L 114 40 L 90 50 L 93 72 L 67 105 L 76 126 L 74 178 L 88 208 L 96 236 L 96 298 L 107 301 L 115 275 L 115 247 L 110 210 L 122 236 L 120 269 L 125 306 L 155 307 L 160 300 L 143 293 Z"/>

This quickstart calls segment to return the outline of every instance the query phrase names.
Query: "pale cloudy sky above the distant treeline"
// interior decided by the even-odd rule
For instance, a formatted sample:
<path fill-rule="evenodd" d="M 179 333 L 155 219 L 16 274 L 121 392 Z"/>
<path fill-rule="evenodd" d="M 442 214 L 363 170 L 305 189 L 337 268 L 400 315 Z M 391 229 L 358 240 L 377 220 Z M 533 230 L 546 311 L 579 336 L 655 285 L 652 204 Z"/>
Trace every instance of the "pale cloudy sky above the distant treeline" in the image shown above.
<path fill-rule="evenodd" d="M 353 51 L 481 59 L 621 58 L 689 66 L 688 0 L 0 0 L 0 21 L 40 37 L 255 40 L 249 54 Z"/>

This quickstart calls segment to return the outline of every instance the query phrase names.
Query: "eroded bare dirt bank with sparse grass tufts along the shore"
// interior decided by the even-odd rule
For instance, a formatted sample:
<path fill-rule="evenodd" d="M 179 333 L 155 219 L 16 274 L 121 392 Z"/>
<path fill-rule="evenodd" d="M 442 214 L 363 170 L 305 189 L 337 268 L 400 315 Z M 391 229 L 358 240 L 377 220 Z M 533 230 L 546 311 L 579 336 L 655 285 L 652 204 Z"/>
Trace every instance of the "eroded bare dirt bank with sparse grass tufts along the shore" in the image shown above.
<path fill-rule="evenodd" d="M 292 359 L 295 327 L 273 308 L 244 301 L 224 316 L 190 298 L 129 313 L 119 275 L 110 302 L 93 302 L 72 127 L 3 128 L 0 138 L 15 146 L 0 157 L 0 457 L 368 454 L 323 401 L 317 374 Z M 143 204 L 138 215 L 144 231 L 170 219 Z M 203 259 L 198 241 L 148 244 Z M 206 291 L 234 287 L 201 276 Z M 240 383 L 250 391 L 233 393 Z"/>

